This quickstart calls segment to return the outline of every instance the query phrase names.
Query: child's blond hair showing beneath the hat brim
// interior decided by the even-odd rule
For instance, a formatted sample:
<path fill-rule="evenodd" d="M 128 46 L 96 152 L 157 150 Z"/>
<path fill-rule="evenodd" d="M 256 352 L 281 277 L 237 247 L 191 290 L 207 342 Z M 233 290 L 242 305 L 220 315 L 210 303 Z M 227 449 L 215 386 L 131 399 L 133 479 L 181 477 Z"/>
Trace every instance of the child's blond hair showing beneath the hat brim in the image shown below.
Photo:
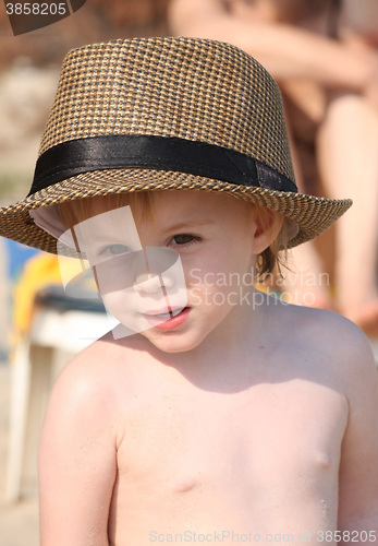
<path fill-rule="evenodd" d="M 167 191 L 167 190 L 166 190 Z M 156 192 L 155 192 L 156 193 Z M 161 192 L 160 192 L 161 193 Z M 247 203 L 253 209 L 254 215 L 258 222 L 267 226 L 275 214 L 270 209 L 266 209 L 256 203 Z M 65 201 L 58 205 L 59 214 L 64 226 L 70 229 L 74 225 L 113 209 L 130 205 L 132 213 L 138 215 L 142 221 L 154 222 L 154 203 L 151 191 L 138 191 L 130 193 L 108 193 L 92 198 L 83 198 L 73 201 Z M 269 273 L 272 273 L 277 266 L 285 265 L 288 251 L 288 222 L 284 218 L 278 237 L 257 257 L 256 277 L 264 280 Z M 283 259 L 280 253 L 283 253 Z"/>

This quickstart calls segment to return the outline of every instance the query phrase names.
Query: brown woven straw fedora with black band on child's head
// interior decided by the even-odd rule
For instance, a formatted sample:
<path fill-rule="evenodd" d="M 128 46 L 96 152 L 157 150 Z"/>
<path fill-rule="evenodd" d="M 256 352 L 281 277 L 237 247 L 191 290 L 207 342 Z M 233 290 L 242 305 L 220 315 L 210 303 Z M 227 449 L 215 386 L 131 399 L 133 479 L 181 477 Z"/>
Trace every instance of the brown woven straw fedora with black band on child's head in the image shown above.
<path fill-rule="evenodd" d="M 352 204 L 297 192 L 280 92 L 249 55 L 207 39 L 119 39 L 66 56 L 31 192 L 0 210 L 0 235 L 57 252 L 57 204 L 172 189 L 278 211 L 295 226 L 290 247 Z"/>

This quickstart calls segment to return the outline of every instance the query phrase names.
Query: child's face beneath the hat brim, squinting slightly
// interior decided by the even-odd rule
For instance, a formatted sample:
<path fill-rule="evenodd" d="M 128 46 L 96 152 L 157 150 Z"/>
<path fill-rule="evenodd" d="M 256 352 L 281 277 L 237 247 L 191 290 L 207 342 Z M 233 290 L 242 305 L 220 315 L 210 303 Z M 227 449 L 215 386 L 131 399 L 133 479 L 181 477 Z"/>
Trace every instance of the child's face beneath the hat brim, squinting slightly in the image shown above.
<path fill-rule="evenodd" d="M 219 328 L 228 334 L 253 289 L 253 207 L 225 195 L 164 191 L 154 194 L 151 213 L 133 217 L 125 206 L 83 224 L 81 246 L 106 307 L 164 352 L 190 351 Z"/>

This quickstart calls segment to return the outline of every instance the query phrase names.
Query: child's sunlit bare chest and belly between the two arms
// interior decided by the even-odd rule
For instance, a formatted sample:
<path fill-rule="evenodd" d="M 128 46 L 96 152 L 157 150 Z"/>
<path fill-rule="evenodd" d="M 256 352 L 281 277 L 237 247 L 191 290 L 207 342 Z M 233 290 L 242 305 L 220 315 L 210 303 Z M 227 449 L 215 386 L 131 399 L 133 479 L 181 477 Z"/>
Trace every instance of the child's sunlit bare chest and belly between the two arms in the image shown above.
<path fill-rule="evenodd" d="M 222 529 L 300 544 L 310 529 L 336 529 L 347 404 L 334 390 L 301 379 L 231 393 L 160 387 L 134 402 L 118 451 L 114 544 Z"/>

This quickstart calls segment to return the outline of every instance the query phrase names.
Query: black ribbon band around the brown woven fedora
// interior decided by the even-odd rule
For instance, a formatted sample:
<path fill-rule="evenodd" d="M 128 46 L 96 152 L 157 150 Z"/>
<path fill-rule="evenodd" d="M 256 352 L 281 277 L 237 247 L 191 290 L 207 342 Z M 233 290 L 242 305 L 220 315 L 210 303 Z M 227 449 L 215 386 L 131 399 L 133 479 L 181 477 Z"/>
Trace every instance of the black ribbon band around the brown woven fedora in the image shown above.
<path fill-rule="evenodd" d="M 297 191 L 285 176 L 234 150 L 176 136 L 107 134 L 47 150 L 37 161 L 29 195 L 83 173 L 120 168 L 174 170 L 236 186 Z"/>

